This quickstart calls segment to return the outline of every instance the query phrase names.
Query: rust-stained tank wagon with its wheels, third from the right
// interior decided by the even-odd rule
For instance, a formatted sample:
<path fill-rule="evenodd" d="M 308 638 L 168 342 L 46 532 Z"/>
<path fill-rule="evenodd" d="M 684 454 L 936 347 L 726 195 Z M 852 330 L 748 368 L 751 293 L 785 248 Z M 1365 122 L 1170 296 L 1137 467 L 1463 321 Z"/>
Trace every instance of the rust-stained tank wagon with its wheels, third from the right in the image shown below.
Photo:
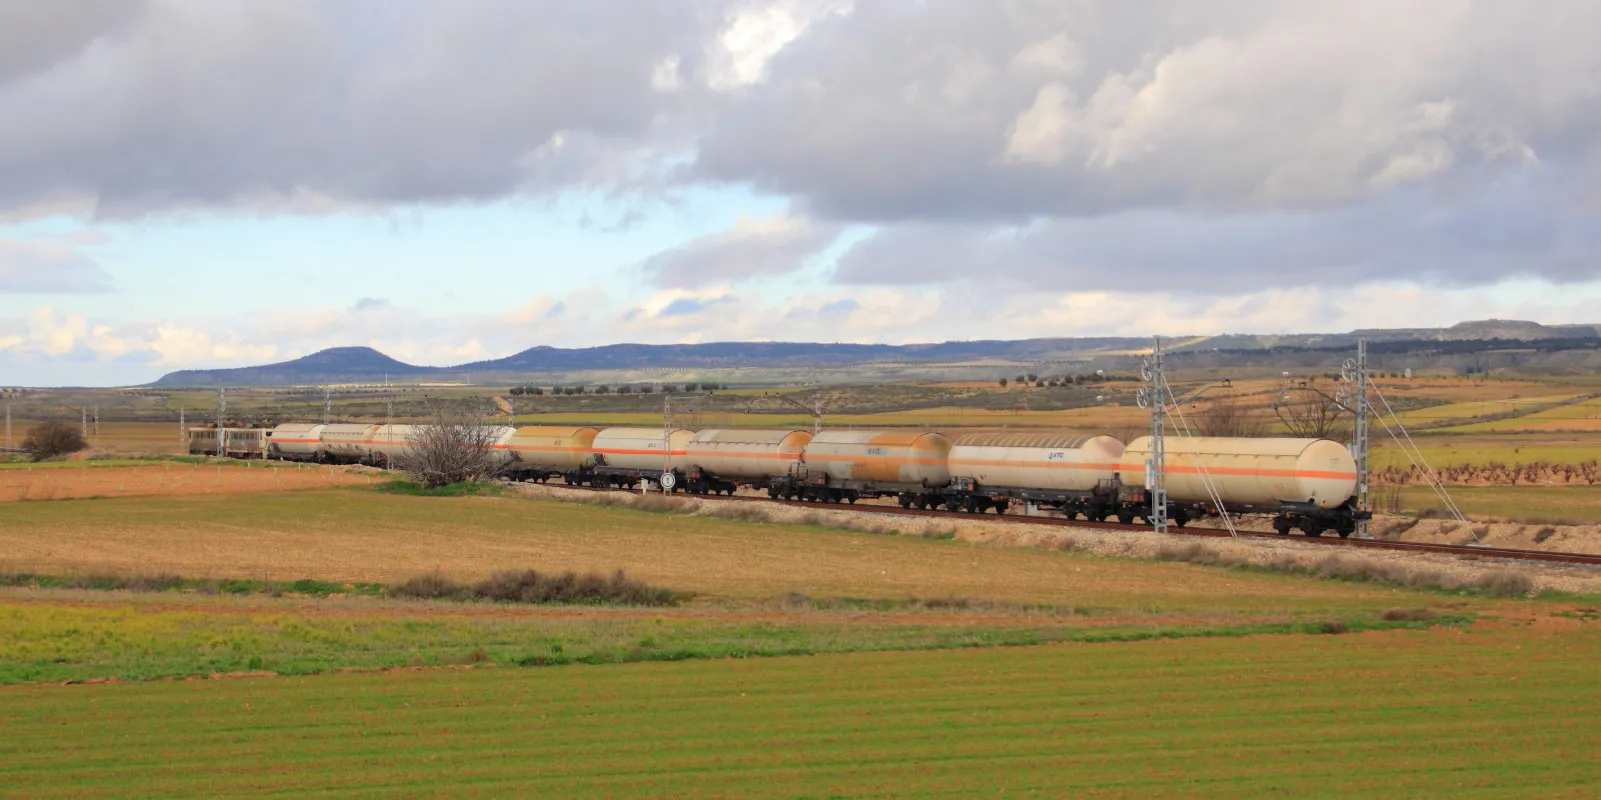
<path fill-rule="evenodd" d="M 792 482 L 772 496 L 818 501 L 898 496 L 903 507 L 943 502 L 951 483 L 951 440 L 916 430 L 825 430 L 805 448 Z"/>

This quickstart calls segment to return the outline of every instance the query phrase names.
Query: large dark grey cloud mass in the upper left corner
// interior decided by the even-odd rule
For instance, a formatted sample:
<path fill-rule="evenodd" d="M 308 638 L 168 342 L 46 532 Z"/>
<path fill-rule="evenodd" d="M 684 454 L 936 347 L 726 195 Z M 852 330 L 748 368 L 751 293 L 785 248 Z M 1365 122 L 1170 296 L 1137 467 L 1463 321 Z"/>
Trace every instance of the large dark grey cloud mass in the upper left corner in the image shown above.
<path fill-rule="evenodd" d="M 703 91 L 688 78 L 720 24 L 714 5 L 620 0 L 158 2 L 0 75 L 0 208 L 322 211 L 618 182 L 679 136 L 663 120 Z M 653 85 L 669 58 L 688 78 Z"/>

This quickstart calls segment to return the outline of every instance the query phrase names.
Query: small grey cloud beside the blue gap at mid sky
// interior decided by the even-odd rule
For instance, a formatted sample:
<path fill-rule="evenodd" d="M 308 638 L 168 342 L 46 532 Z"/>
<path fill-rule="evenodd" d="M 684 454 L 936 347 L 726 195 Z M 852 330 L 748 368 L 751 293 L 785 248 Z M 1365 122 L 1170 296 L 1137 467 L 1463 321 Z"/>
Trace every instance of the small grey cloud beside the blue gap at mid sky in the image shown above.
<path fill-rule="evenodd" d="M 676 288 L 783 275 L 800 269 L 841 230 L 786 214 L 740 218 L 728 230 L 658 253 L 639 269 L 656 285 Z"/>

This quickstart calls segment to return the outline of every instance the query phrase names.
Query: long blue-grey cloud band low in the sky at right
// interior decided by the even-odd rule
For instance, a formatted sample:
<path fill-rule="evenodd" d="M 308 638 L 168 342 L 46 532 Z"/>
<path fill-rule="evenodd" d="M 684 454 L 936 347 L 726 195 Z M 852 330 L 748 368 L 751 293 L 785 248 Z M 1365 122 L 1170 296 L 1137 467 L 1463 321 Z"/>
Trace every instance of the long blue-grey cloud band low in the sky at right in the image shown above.
<path fill-rule="evenodd" d="M 847 285 L 969 282 L 988 291 L 1228 294 L 1265 286 L 1434 286 L 1519 275 L 1596 278 L 1601 226 L 1574 211 L 1583 186 L 1553 168 L 1459 194 L 1454 182 L 1394 189 L 1337 210 L 1202 214 L 1172 208 L 1023 226 L 908 222 L 849 251 Z"/>

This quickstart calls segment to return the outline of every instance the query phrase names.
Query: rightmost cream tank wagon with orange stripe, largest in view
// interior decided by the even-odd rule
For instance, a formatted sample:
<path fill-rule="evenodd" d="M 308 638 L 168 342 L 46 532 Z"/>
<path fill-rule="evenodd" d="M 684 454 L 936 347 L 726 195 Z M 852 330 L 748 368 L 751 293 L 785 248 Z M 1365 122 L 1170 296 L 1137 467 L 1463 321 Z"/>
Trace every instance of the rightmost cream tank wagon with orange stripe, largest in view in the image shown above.
<path fill-rule="evenodd" d="M 1130 442 L 1122 482 L 1143 485 L 1150 458 L 1151 437 Z M 1209 485 L 1230 512 L 1273 514 L 1279 533 L 1350 536 L 1369 517 L 1356 507 L 1356 459 L 1327 438 L 1170 437 L 1164 464 L 1175 520 L 1217 512 Z"/>

